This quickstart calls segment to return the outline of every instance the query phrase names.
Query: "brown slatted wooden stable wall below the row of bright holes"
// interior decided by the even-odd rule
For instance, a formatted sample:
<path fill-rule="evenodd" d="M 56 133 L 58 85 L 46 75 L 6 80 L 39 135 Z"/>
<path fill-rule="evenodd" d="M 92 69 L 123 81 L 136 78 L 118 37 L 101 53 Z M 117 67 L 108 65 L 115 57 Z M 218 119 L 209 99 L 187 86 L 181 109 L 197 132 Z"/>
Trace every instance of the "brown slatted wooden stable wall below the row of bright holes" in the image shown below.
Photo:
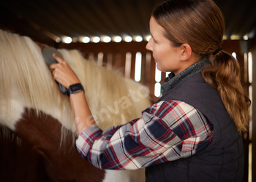
<path fill-rule="evenodd" d="M 134 79 L 135 76 L 135 55 L 137 52 L 142 54 L 142 70 L 140 83 L 146 85 L 150 90 L 150 95 L 153 101 L 158 98 L 154 96 L 155 82 L 155 62 L 151 56 L 151 52 L 146 50 L 147 41 L 142 42 L 110 42 L 110 43 L 72 43 L 72 44 L 59 44 L 57 48 L 77 49 L 83 52 L 85 58 L 94 58 L 99 65 L 107 66 L 108 68 L 117 68 L 125 76 Z M 245 56 L 248 52 L 247 42 L 238 40 L 225 40 L 222 42 L 222 50 L 226 52 L 236 52 L 236 58 L 241 66 L 241 81 L 244 85 L 245 92 L 249 93 L 249 86 L 252 83 L 248 81 L 248 60 Z M 130 52 L 132 55 L 130 73 L 125 71 L 126 55 Z M 160 83 L 164 83 L 165 73 L 162 73 Z M 244 181 L 248 181 L 249 173 L 249 145 L 252 143 L 252 138 L 249 138 L 249 132 L 244 133 L 244 151 L 245 151 L 245 168 L 244 168 Z"/>

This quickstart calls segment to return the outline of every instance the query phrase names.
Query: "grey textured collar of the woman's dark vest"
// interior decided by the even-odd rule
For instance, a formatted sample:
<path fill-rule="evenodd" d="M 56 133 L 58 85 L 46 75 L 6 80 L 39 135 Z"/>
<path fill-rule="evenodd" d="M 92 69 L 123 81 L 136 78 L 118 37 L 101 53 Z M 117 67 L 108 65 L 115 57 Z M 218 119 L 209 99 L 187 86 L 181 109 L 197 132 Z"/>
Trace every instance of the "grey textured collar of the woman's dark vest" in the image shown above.
<path fill-rule="evenodd" d="M 184 82 L 186 79 L 189 79 L 194 74 L 197 74 L 201 71 L 201 68 L 203 66 L 208 65 L 210 62 L 208 59 L 200 60 L 197 63 L 193 64 L 192 66 L 189 66 L 184 71 L 181 71 L 179 74 L 175 75 L 173 73 L 170 73 L 167 78 L 165 79 L 165 84 L 162 84 L 162 95 L 165 95 L 165 93 L 169 90 L 172 90 L 174 87 L 176 87 L 181 82 Z"/>

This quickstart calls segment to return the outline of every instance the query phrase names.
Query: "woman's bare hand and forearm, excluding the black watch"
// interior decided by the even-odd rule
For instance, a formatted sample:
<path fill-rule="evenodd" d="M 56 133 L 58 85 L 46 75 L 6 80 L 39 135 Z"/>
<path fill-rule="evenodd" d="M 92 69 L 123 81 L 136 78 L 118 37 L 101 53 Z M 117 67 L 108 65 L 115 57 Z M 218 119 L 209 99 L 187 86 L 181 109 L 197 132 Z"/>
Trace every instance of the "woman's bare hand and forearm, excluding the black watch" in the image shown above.
<path fill-rule="evenodd" d="M 53 79 L 55 79 L 66 88 L 72 84 L 80 83 L 78 76 L 75 74 L 72 68 L 70 68 L 66 61 L 59 58 L 55 54 L 53 54 L 53 58 L 58 61 L 58 63 L 53 63 L 50 65 L 50 70 L 53 73 Z M 71 94 L 70 102 L 75 118 L 75 125 L 78 130 L 78 135 L 80 135 L 84 129 L 94 125 L 95 121 L 92 117 L 83 91 Z"/>

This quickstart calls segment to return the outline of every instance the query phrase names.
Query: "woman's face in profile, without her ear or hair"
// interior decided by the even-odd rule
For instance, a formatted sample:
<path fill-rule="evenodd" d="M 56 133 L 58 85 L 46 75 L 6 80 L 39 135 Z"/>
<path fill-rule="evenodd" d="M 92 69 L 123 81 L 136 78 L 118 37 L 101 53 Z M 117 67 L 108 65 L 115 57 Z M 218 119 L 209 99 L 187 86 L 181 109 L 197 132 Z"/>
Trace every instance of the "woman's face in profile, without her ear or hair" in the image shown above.
<path fill-rule="evenodd" d="M 146 45 L 147 50 L 151 50 L 153 57 L 160 71 L 171 71 L 178 74 L 184 68 L 180 61 L 181 51 L 178 47 L 174 47 L 173 43 L 165 38 L 165 30 L 160 26 L 154 17 L 150 22 L 151 39 Z"/>

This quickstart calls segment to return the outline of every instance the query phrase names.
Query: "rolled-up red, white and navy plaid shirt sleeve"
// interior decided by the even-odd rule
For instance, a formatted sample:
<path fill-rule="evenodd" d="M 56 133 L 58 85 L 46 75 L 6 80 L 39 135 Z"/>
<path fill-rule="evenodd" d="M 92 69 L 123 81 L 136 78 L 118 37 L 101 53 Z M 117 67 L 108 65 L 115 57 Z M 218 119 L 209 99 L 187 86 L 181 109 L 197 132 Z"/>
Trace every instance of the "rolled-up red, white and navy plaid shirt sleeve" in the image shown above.
<path fill-rule="evenodd" d="M 134 170 L 190 157 L 208 146 L 213 125 L 181 101 L 155 103 L 140 119 L 102 131 L 83 130 L 76 145 L 83 159 L 101 169 Z"/>

